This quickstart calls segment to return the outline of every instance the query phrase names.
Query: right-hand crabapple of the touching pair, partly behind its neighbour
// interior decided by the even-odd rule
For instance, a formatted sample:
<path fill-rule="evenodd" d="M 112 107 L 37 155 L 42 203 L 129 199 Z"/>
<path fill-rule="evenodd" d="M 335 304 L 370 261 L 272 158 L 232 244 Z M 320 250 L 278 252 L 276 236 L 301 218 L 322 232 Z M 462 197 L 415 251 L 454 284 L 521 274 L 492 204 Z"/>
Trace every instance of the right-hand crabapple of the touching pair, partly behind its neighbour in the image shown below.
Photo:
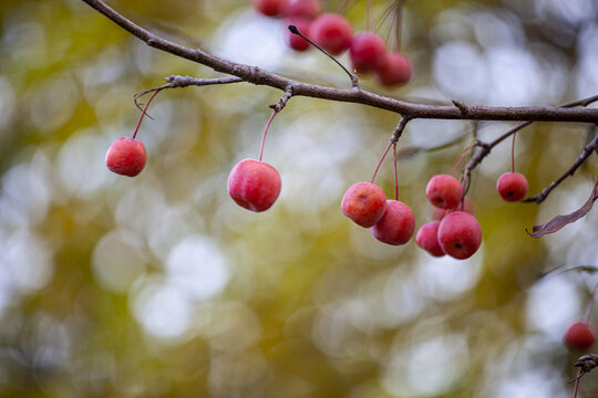
<path fill-rule="evenodd" d="M 409 206 L 398 200 L 386 200 L 380 221 L 372 227 L 375 239 L 388 244 L 409 242 L 415 230 L 415 216 Z"/>

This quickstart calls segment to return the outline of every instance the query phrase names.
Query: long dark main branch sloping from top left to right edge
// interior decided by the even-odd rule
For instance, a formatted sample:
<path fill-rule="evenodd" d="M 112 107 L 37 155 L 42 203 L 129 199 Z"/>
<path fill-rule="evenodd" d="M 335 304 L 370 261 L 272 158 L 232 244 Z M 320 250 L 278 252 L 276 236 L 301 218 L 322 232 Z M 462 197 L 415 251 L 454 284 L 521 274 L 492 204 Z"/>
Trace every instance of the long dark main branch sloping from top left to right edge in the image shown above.
<path fill-rule="evenodd" d="M 579 122 L 598 123 L 598 109 L 564 108 L 551 106 L 525 107 L 491 107 L 491 106 L 436 106 L 415 104 L 382 96 L 359 87 L 333 88 L 307 84 L 279 76 L 258 66 L 235 63 L 202 50 L 194 50 L 176 44 L 138 27 L 102 0 L 82 0 L 111 21 L 135 35 L 147 45 L 165 51 L 173 55 L 206 65 L 216 72 L 240 77 L 245 82 L 266 85 L 281 91 L 292 87 L 293 96 L 308 96 L 321 100 L 357 103 L 398 113 L 403 117 L 441 118 L 441 119 L 473 119 L 473 121 L 535 121 L 535 122 Z M 463 112 L 466 109 L 467 112 Z"/>

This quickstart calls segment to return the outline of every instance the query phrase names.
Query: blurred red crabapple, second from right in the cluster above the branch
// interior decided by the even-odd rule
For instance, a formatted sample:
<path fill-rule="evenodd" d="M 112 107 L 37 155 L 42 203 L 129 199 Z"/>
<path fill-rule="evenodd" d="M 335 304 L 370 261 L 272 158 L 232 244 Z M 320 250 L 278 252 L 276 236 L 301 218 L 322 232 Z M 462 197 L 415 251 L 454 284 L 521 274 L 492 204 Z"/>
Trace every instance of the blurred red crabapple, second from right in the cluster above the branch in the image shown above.
<path fill-rule="evenodd" d="M 372 32 L 358 33 L 351 40 L 349 56 L 358 73 L 373 72 L 384 62 L 386 44 L 384 40 Z"/>

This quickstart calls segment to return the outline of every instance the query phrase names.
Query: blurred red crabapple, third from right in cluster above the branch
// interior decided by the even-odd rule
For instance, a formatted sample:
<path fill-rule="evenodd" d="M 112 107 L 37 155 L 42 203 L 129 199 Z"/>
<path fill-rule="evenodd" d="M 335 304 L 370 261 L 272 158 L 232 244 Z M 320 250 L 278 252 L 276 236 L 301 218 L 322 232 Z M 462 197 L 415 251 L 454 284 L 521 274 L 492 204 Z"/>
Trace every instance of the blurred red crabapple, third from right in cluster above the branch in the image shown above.
<path fill-rule="evenodd" d="M 338 55 L 349 49 L 353 28 L 341 15 L 324 13 L 311 23 L 310 39 L 332 55 Z"/>

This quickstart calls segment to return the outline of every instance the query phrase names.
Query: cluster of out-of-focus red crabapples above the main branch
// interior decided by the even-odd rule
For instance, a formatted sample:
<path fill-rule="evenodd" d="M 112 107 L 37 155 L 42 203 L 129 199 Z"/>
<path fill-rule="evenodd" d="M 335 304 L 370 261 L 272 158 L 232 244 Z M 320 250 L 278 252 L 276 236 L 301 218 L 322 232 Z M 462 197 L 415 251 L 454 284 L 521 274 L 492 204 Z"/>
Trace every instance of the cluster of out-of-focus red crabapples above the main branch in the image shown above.
<path fill-rule="evenodd" d="M 383 86 L 408 83 L 413 75 L 409 57 L 386 51 L 384 40 L 374 32 L 353 35 L 353 28 L 338 13 L 322 13 L 321 0 L 254 0 L 254 7 L 267 17 L 280 17 L 295 25 L 306 38 L 331 55 L 349 50 L 352 69 L 360 75 L 375 73 Z M 307 51 L 310 43 L 287 30 L 288 45 L 295 51 Z"/>

